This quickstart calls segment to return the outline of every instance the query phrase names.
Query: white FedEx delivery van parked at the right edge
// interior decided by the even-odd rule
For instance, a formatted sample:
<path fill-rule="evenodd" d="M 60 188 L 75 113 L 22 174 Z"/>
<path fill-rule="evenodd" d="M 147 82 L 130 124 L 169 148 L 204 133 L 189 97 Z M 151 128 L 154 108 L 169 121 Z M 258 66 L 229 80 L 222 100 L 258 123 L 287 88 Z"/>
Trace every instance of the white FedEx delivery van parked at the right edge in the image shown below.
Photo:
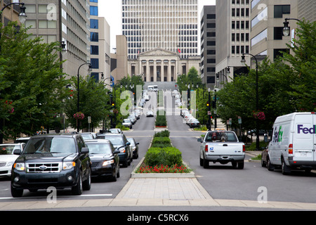
<path fill-rule="evenodd" d="M 282 174 L 291 169 L 316 168 L 316 115 L 291 113 L 277 117 L 273 124 L 272 141 L 269 143 L 269 170 L 282 168 Z"/>

